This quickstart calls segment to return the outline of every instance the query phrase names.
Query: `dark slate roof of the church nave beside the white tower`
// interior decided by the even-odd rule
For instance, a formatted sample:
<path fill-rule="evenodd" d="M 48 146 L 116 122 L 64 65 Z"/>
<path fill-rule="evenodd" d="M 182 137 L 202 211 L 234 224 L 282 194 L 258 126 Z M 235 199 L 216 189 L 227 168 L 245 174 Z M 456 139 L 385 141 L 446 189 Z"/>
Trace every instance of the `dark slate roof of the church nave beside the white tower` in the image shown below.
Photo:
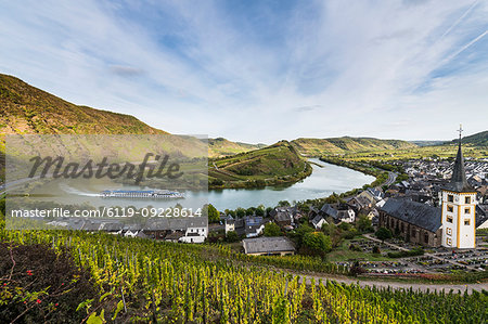
<path fill-rule="evenodd" d="M 407 199 L 389 198 L 381 210 L 410 224 L 436 232 L 441 225 L 440 208 Z"/>

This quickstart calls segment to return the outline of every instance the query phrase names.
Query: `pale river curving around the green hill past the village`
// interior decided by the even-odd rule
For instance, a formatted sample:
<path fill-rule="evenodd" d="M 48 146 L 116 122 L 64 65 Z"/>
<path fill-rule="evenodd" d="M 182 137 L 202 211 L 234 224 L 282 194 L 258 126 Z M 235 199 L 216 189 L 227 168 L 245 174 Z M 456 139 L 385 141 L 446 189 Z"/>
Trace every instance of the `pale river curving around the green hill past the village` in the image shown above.
<path fill-rule="evenodd" d="M 102 198 L 99 193 L 106 189 L 106 183 L 77 183 L 52 182 L 42 187 L 41 193 L 52 193 L 55 202 L 61 204 L 82 204 L 92 206 L 134 206 L 137 208 L 147 207 L 171 207 L 178 202 L 184 207 L 202 206 L 205 203 L 213 204 L 218 210 L 235 209 L 237 207 L 248 208 L 265 205 L 274 207 L 280 200 L 294 200 L 321 198 L 332 193 L 343 193 L 365 183 L 371 183 L 374 177 L 361 172 L 326 164 L 317 158 L 311 158 L 312 173 L 306 179 L 287 186 L 267 186 L 262 189 L 224 189 L 208 192 L 185 193 L 185 199 L 130 199 L 130 198 Z M 317 165 L 320 165 L 317 166 Z M 119 185 L 119 184 L 118 184 Z M 139 186 L 124 186 L 126 190 L 141 190 Z M 146 189 L 146 187 L 144 187 Z M 49 200 L 49 198 L 47 198 Z"/>

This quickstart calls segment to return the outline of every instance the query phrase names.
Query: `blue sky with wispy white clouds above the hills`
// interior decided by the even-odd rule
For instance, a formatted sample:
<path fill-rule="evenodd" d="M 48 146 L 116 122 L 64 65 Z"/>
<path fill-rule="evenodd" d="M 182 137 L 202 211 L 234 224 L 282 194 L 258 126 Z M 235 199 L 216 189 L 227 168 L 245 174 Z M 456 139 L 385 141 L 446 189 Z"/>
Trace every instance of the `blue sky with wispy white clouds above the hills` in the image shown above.
<path fill-rule="evenodd" d="M 0 73 L 184 134 L 450 140 L 488 125 L 488 0 L 0 0 Z"/>

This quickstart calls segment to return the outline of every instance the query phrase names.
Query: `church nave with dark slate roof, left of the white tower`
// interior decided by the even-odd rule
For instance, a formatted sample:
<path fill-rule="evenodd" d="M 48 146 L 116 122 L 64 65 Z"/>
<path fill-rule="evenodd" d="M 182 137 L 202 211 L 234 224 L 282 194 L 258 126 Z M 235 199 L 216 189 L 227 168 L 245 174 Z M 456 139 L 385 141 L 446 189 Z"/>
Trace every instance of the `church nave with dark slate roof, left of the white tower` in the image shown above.
<path fill-rule="evenodd" d="M 426 204 L 389 198 L 380 208 L 380 226 L 414 244 L 438 247 L 441 243 L 440 209 Z"/>

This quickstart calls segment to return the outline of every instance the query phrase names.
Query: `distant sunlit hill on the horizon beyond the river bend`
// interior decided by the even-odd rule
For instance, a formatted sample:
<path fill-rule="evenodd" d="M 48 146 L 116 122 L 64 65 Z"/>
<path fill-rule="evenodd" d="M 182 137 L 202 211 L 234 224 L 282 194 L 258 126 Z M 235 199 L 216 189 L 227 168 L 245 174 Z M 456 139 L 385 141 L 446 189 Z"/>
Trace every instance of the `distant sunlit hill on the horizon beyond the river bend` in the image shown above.
<path fill-rule="evenodd" d="M 380 140 L 373 138 L 331 138 L 297 139 L 292 141 L 297 151 L 307 156 L 346 154 L 383 150 L 403 150 L 416 147 L 415 144 L 400 140 Z"/>

